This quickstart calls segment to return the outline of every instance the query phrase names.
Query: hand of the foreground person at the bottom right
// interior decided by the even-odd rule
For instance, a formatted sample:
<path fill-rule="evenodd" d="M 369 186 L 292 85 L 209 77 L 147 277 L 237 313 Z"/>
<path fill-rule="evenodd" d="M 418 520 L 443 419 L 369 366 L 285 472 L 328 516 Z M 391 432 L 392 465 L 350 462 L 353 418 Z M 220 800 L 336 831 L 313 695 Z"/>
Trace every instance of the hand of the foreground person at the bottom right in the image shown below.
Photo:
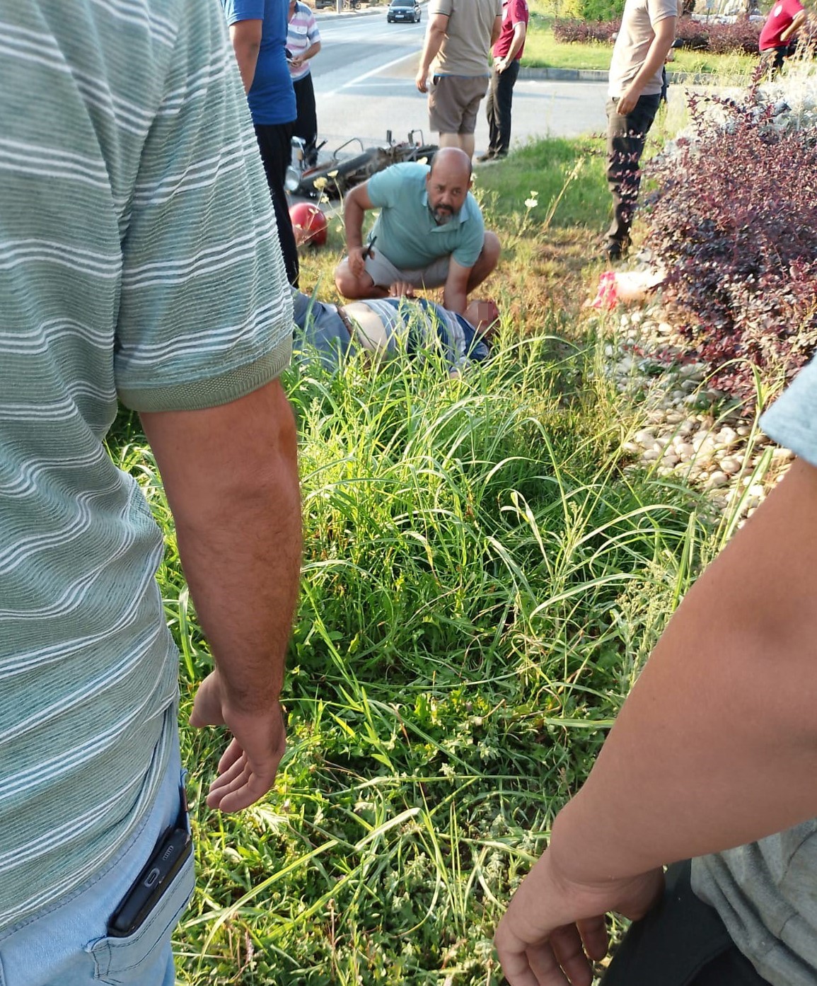
<path fill-rule="evenodd" d="M 643 917 L 663 882 L 663 871 L 653 870 L 582 884 L 560 873 L 546 851 L 514 893 L 494 937 L 511 986 L 590 986 L 590 961 L 607 954 L 604 915 Z"/>

